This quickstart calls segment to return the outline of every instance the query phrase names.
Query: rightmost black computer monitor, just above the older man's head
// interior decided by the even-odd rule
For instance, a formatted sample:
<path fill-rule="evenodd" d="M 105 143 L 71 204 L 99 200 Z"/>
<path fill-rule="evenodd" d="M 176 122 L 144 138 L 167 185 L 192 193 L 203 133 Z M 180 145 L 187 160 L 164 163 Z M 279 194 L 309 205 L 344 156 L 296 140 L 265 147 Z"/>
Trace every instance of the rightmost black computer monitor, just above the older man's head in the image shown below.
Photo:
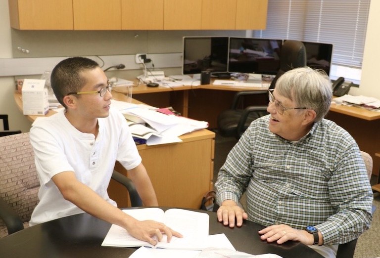
<path fill-rule="evenodd" d="M 306 48 L 306 65 L 313 69 L 322 69 L 330 75 L 332 44 L 302 42 Z"/>

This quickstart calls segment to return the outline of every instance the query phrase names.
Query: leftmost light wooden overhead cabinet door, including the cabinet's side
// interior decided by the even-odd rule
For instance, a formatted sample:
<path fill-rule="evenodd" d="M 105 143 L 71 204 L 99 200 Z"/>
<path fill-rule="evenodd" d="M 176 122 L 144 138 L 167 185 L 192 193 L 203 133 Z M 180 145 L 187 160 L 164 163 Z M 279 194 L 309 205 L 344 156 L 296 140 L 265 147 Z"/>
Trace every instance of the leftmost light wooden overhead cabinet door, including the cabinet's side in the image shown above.
<path fill-rule="evenodd" d="M 10 26 L 19 30 L 72 30 L 72 0 L 8 0 Z"/>

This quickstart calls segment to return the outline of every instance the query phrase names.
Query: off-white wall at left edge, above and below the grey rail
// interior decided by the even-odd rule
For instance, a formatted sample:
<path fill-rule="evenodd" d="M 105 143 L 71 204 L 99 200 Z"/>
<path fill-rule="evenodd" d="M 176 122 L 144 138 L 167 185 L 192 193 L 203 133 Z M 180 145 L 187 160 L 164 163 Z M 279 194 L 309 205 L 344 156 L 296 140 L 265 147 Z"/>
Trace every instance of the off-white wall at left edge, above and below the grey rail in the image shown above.
<path fill-rule="evenodd" d="M 8 0 L 0 0 L 0 6 L 0 58 L 12 58 Z M 18 110 L 13 98 L 14 89 L 14 77 L 0 77 L 0 113 L 8 114 L 10 129 L 28 132 L 31 122 Z"/>

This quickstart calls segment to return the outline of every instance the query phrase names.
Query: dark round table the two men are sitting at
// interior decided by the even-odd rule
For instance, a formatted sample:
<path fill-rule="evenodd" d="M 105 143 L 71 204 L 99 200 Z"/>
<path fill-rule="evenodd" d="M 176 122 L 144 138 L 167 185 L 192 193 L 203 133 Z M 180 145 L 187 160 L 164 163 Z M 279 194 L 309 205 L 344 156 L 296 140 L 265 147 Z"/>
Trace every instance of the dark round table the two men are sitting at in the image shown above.
<path fill-rule="evenodd" d="M 163 210 L 168 208 L 162 207 Z M 230 228 L 219 223 L 216 213 L 199 211 L 210 216 L 209 234 L 224 233 L 236 250 L 249 254 L 277 254 L 286 258 L 322 258 L 299 242 L 282 245 L 260 240 L 257 231 L 264 228 L 251 221 Z M 62 217 L 18 231 L 0 239 L 1 257 L 55 258 L 129 257 L 137 248 L 101 246 L 111 224 L 87 213 Z M 302 255 L 301 255 L 302 254 Z"/>

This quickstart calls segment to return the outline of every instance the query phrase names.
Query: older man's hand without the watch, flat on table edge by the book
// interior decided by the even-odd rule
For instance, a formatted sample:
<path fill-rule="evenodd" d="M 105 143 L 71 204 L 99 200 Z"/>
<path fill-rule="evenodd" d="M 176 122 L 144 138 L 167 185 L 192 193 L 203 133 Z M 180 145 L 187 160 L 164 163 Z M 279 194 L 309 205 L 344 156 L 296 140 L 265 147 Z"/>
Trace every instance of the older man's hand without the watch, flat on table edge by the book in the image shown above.
<path fill-rule="evenodd" d="M 219 222 L 223 222 L 223 225 L 229 225 L 230 227 L 235 226 L 235 220 L 236 225 L 239 227 L 243 224 L 243 219 L 248 218 L 248 214 L 246 214 L 233 200 L 223 201 L 217 211 L 217 216 Z"/>

